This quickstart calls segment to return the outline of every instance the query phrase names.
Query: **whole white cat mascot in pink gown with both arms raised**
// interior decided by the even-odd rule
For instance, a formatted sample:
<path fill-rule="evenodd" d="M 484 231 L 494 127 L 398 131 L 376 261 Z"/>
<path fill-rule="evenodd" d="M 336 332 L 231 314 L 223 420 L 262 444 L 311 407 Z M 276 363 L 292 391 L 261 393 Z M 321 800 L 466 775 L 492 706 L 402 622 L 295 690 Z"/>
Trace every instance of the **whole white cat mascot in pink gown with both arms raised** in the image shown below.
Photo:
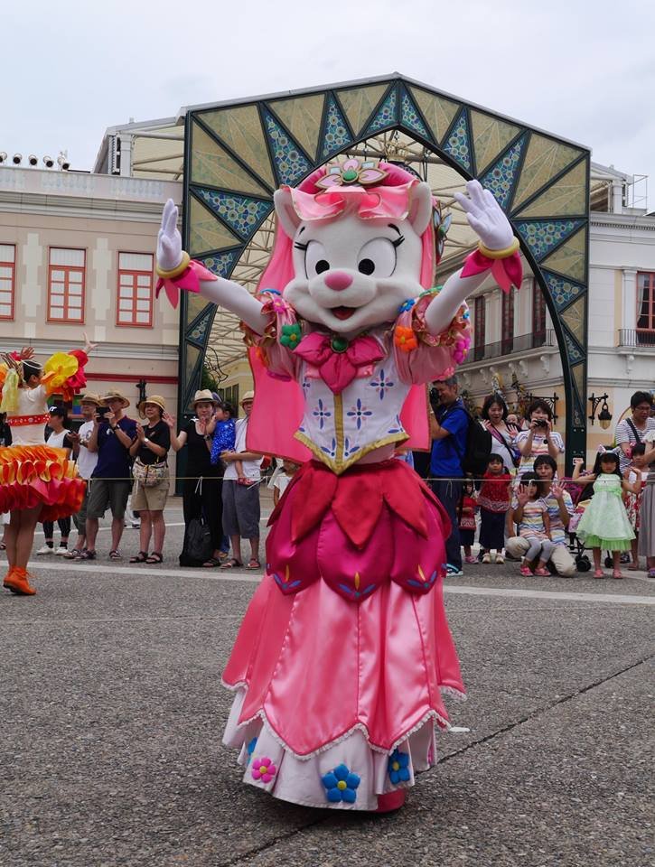
<path fill-rule="evenodd" d="M 400 806 L 435 763 L 442 696 L 463 696 L 443 602 L 448 517 L 393 454 L 428 445 L 425 383 L 466 354 L 466 295 L 490 270 L 520 284 L 508 220 L 478 182 L 467 190 L 481 244 L 441 289 L 431 191 L 396 165 L 332 163 L 276 191 L 255 297 L 190 262 L 164 209 L 159 288 L 173 303 L 200 291 L 243 322 L 248 450 L 303 462 L 223 674 L 244 782 L 296 804 Z"/>

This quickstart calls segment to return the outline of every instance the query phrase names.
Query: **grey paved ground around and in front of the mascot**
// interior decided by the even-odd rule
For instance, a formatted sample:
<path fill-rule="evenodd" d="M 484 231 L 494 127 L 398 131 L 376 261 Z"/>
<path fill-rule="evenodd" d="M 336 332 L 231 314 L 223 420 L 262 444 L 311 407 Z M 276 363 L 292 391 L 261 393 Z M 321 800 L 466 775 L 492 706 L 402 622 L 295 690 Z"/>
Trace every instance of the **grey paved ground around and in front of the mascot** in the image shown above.
<path fill-rule="evenodd" d="M 167 521 L 161 567 L 34 558 L 38 595 L 0 596 L 0 864 L 655 864 L 644 573 L 449 582 L 467 731 L 397 816 L 335 815 L 239 783 L 219 674 L 258 576 L 176 569 L 179 503 Z"/>

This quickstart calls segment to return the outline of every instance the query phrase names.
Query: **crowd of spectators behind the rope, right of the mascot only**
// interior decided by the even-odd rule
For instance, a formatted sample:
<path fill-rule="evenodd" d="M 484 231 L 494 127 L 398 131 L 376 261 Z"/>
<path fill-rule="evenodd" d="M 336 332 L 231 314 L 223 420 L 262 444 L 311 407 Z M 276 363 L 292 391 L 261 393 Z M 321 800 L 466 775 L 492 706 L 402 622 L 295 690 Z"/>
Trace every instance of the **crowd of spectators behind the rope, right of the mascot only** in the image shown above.
<path fill-rule="evenodd" d="M 576 486 L 562 469 L 558 471 L 565 444 L 554 430 L 553 411 L 547 401 L 534 400 L 521 420 L 508 412 L 501 396 L 494 394 L 485 399 L 480 417 L 473 418 L 458 394 L 455 377 L 435 383 L 431 397 L 430 485 L 453 526 L 446 542 L 447 573 L 462 573 L 463 545 L 464 560 L 469 564 L 476 560 L 504 563 L 507 556 L 519 560 L 524 573 L 546 574 L 548 570 L 566 577 L 574 575 L 576 549 L 569 525 L 575 513 L 571 491 L 575 493 Z M 626 479 L 623 503 L 636 536 L 630 568 L 639 568 L 639 557 L 645 556 L 649 573 L 655 566 L 652 408 L 650 393 L 636 392 L 632 415 L 617 425 L 613 445 L 621 458 L 621 475 Z M 480 424 L 490 434 L 489 454 L 486 471 L 464 488 L 472 424 Z M 637 485 L 632 492 L 637 477 L 641 488 Z M 587 496 L 591 497 L 594 489 L 589 487 Z M 581 503 L 580 510 L 583 507 Z M 477 558 L 473 555 L 476 529 Z M 608 555 L 615 554 L 608 548 Z M 614 569 L 614 577 L 621 577 L 620 570 Z"/>

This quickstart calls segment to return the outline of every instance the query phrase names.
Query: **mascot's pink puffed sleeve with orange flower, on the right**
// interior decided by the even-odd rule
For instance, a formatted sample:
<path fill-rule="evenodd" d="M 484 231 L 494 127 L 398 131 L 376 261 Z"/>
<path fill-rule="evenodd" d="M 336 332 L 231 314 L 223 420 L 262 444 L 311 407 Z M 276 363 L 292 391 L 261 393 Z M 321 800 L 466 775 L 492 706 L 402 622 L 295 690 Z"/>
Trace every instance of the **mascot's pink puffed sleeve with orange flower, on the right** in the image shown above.
<path fill-rule="evenodd" d="M 466 304 L 441 334 L 427 331 L 426 308 L 438 291 L 431 289 L 420 294 L 416 303 L 404 303 L 392 331 L 399 376 L 412 385 L 452 377 L 471 345 L 471 315 Z"/>

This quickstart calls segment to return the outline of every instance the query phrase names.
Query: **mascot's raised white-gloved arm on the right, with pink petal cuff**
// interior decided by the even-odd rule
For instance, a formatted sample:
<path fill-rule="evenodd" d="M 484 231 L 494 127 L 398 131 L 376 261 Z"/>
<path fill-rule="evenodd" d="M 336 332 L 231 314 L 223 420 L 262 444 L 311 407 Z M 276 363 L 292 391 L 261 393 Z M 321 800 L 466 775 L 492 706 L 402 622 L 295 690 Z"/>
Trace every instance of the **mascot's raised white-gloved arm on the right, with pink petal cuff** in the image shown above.
<path fill-rule="evenodd" d="M 427 308 L 427 329 L 435 335 L 449 326 L 465 299 L 482 285 L 490 269 L 505 291 L 509 291 L 510 284 L 518 288 L 521 281 L 520 260 L 516 255 L 519 241 L 514 238 L 510 221 L 501 206 L 478 181 L 469 181 L 466 191 L 468 195 L 456 192 L 455 199 L 462 205 L 466 219 L 481 243 L 463 268 L 448 277 L 444 288 Z M 502 260 L 506 264 L 501 266 Z"/>

